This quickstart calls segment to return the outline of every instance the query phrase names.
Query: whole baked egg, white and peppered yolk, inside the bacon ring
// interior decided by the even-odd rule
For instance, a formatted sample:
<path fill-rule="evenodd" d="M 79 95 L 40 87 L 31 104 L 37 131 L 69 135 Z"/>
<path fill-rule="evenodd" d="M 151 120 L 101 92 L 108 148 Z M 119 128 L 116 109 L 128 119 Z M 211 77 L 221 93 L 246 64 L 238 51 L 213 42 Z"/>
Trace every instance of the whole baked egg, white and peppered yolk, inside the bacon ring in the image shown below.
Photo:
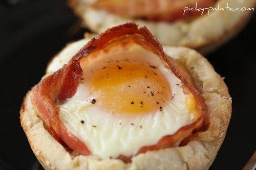
<path fill-rule="evenodd" d="M 60 105 L 59 117 L 101 159 L 135 155 L 198 116 L 196 100 L 184 92 L 182 81 L 137 43 L 100 50 L 80 65 L 80 85 Z"/>

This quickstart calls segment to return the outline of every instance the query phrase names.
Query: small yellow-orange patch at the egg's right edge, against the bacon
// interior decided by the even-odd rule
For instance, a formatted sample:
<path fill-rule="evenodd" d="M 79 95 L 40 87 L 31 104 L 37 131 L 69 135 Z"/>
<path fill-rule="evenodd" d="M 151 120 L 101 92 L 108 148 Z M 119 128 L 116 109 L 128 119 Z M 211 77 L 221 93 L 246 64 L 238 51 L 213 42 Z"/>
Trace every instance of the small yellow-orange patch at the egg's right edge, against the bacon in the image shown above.
<path fill-rule="evenodd" d="M 198 118 L 200 113 L 197 109 L 197 100 L 196 100 L 195 96 L 192 93 L 189 93 L 189 95 L 186 97 L 185 105 L 186 105 L 188 111 L 191 114 L 192 122 L 194 122 Z"/>

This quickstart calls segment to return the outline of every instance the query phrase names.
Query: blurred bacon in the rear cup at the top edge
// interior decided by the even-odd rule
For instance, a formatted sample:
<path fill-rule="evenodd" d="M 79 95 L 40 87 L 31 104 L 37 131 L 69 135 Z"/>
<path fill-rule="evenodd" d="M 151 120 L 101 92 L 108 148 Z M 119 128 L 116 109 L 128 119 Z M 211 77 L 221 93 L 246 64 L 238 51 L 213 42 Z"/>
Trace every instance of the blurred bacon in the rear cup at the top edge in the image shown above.
<path fill-rule="evenodd" d="M 208 8 L 215 2 L 216 0 L 98 0 L 92 7 L 126 17 L 175 21 L 201 15 L 202 11 L 195 10 L 196 8 Z M 194 10 L 184 13 L 186 7 Z"/>

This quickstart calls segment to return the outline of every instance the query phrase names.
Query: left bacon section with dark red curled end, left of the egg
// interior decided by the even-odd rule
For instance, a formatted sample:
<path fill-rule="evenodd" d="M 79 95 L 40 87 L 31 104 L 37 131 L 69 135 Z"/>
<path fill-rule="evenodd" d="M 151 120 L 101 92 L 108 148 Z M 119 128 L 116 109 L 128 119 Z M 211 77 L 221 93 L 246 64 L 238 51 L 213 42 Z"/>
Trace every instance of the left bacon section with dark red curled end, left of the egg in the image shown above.
<path fill-rule="evenodd" d="M 68 133 L 59 119 L 58 105 L 71 98 L 80 83 L 82 69 L 78 61 L 70 61 L 54 74 L 43 79 L 33 90 L 32 102 L 53 137 L 80 154 L 90 154 L 85 143 Z"/>

